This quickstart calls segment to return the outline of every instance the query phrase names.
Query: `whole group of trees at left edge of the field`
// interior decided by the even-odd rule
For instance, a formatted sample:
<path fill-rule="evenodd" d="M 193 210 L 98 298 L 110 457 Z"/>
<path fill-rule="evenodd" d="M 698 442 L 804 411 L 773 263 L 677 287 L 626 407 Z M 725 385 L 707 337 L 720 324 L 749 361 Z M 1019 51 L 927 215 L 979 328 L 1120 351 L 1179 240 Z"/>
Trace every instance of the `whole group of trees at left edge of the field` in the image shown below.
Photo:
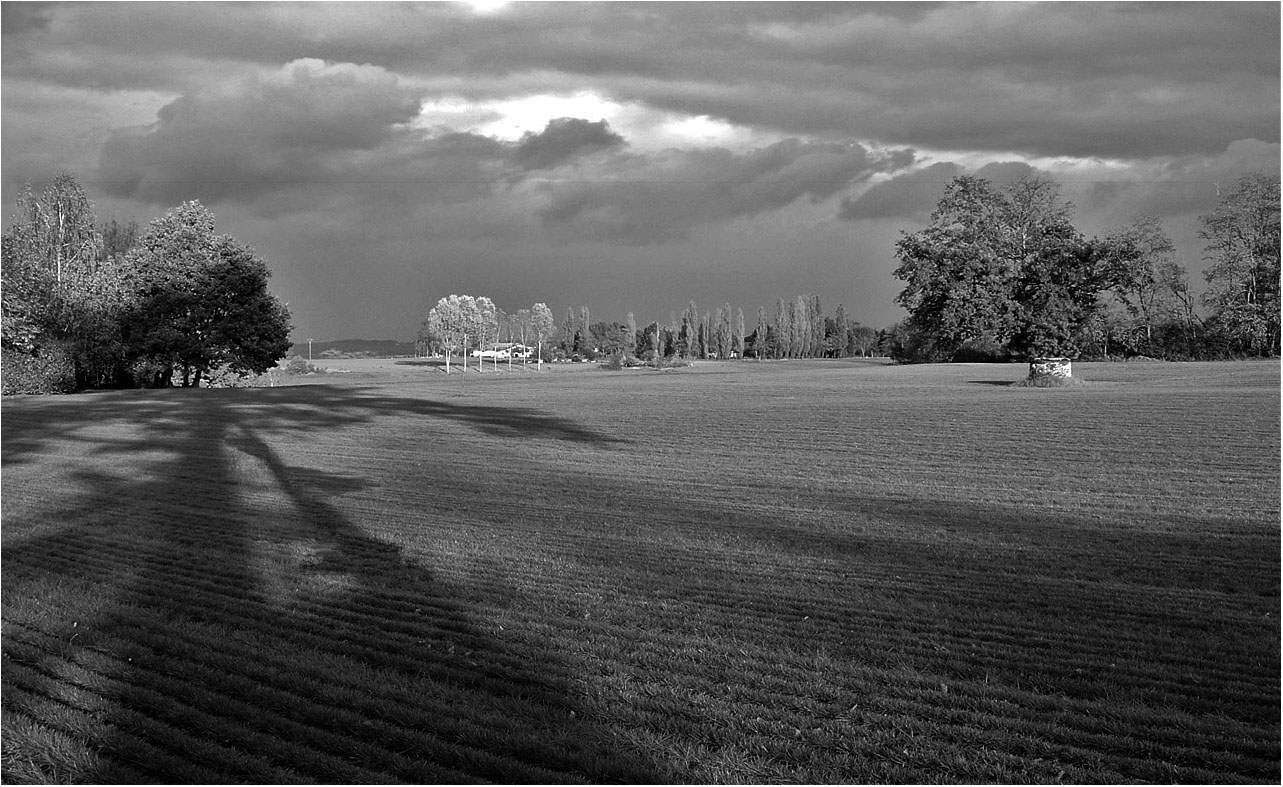
<path fill-rule="evenodd" d="M 146 227 L 95 223 L 76 178 L 26 187 L 4 232 L 5 393 L 199 386 L 259 374 L 289 350 L 289 312 L 253 249 L 214 234 L 198 202 Z"/>

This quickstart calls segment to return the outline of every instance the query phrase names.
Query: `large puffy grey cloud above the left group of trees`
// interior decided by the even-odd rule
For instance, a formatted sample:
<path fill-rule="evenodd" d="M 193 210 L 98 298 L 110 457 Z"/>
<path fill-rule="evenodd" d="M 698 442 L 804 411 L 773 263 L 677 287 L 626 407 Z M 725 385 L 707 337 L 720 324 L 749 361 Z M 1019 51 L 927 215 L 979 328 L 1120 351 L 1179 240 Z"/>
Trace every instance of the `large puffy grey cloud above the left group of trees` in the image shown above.
<path fill-rule="evenodd" d="M 245 202 L 321 184 L 494 180 L 484 169 L 502 145 L 409 130 L 418 108 L 418 91 L 381 68 L 299 60 L 219 94 L 180 96 L 150 128 L 115 134 L 96 180 L 154 204 Z"/>

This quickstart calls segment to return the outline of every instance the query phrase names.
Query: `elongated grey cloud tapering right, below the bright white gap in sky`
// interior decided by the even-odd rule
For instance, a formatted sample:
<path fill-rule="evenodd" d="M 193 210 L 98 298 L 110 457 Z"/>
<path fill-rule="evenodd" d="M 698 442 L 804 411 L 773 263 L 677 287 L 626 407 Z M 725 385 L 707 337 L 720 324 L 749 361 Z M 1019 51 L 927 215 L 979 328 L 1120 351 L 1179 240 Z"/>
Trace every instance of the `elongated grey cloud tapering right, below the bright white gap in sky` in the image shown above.
<path fill-rule="evenodd" d="M 874 155 L 854 144 L 784 140 L 733 153 L 725 149 L 670 150 L 621 158 L 604 180 L 547 186 L 545 226 L 588 238 L 659 243 L 693 227 L 783 208 L 798 199 L 819 202 L 875 172 L 903 168 L 908 150 Z"/>

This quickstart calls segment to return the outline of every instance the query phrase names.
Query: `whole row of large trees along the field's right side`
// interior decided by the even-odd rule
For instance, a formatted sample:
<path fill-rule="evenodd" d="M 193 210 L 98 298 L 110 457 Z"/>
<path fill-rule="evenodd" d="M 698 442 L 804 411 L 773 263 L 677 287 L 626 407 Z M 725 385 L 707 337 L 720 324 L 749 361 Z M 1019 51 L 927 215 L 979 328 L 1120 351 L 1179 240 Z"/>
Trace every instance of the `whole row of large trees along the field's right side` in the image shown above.
<path fill-rule="evenodd" d="M 1159 220 L 1084 238 L 1048 180 L 964 176 L 896 245 L 902 361 L 1279 353 L 1279 181 L 1246 176 L 1202 217 L 1212 262 L 1198 315 Z"/>

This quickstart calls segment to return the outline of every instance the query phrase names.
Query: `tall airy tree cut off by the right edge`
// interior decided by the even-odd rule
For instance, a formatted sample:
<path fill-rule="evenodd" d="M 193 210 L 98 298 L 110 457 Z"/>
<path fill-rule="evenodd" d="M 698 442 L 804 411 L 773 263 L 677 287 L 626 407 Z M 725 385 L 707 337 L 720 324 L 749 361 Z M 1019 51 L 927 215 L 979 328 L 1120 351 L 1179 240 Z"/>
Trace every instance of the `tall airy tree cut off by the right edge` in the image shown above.
<path fill-rule="evenodd" d="M 1259 172 L 1238 180 L 1202 217 L 1207 240 L 1203 303 L 1233 352 L 1279 353 L 1279 178 Z"/>

